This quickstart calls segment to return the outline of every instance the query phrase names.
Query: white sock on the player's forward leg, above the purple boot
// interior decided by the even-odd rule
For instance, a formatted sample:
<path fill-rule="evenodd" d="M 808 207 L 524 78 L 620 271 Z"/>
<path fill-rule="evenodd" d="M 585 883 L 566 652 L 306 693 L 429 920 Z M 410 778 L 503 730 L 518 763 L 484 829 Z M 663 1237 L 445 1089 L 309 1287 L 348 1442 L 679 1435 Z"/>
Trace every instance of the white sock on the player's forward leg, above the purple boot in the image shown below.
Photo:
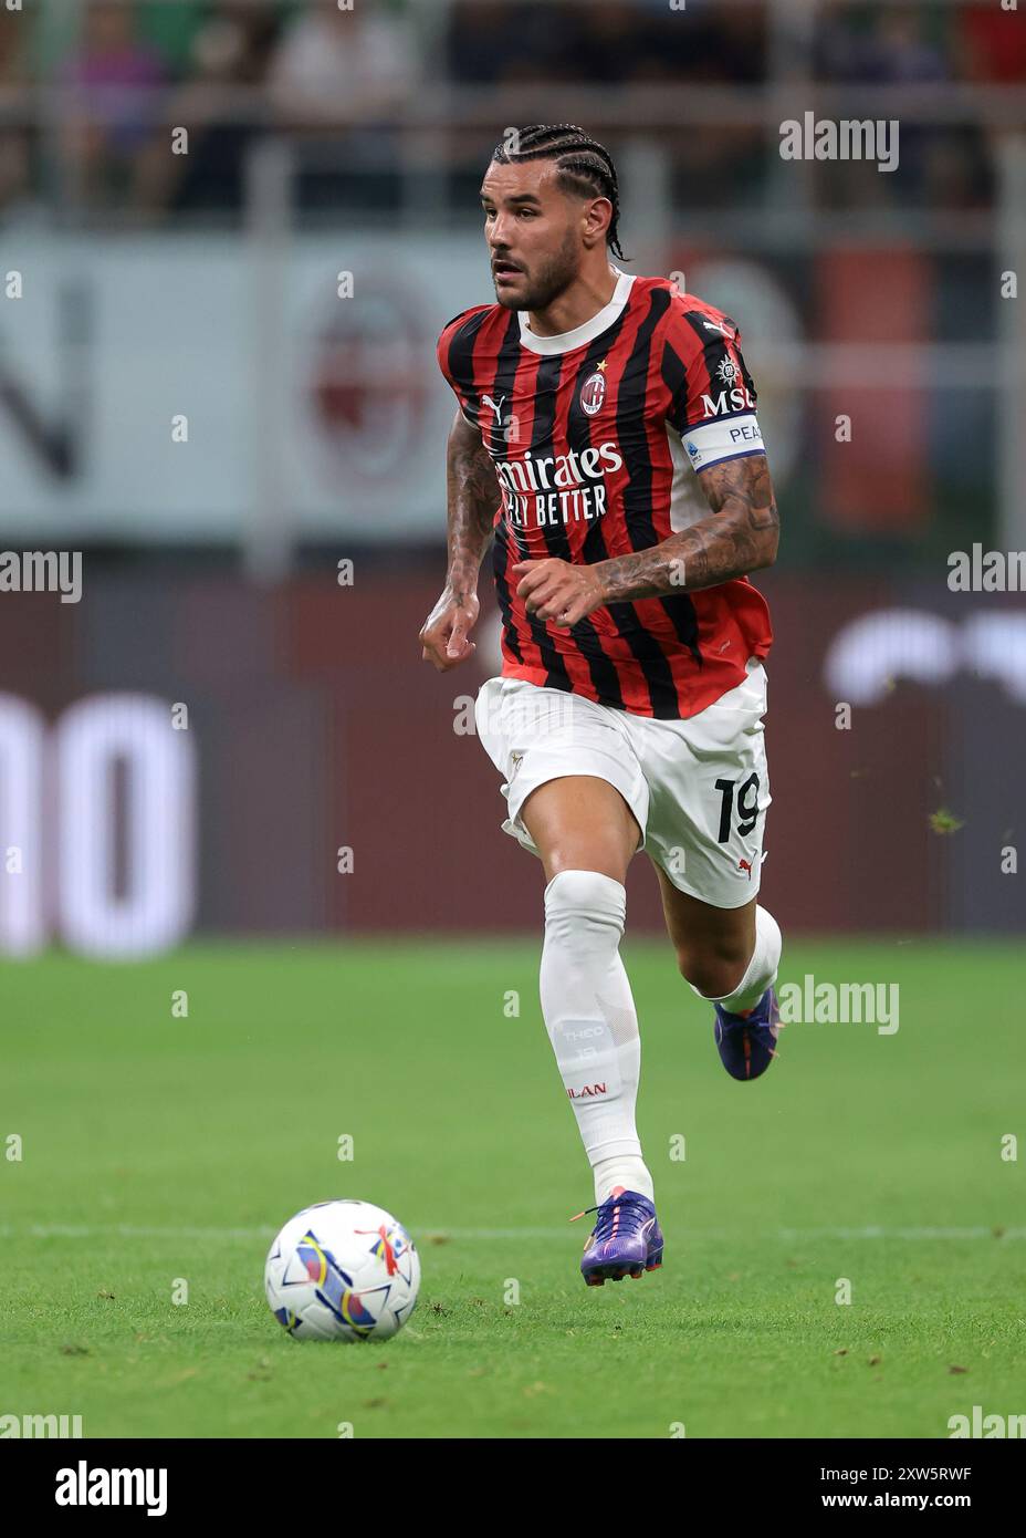
<path fill-rule="evenodd" d="M 616 1186 L 651 1198 L 634 1106 L 640 1037 L 619 943 L 627 892 L 597 871 L 561 871 L 545 887 L 542 1015 L 594 1175 L 594 1200 Z"/>

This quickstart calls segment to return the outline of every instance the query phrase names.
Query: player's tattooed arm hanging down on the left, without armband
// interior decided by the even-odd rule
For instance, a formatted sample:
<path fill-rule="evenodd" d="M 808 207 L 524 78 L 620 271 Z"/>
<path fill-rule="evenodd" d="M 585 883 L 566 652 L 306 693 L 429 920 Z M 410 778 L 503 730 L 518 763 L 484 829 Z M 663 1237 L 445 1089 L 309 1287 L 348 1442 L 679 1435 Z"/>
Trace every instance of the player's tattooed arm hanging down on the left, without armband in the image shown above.
<path fill-rule="evenodd" d="M 491 543 L 499 481 L 481 441 L 461 411 L 448 434 L 448 571 L 442 595 L 421 628 L 422 658 L 447 672 L 475 654 L 468 635 L 478 623 L 478 572 Z"/>

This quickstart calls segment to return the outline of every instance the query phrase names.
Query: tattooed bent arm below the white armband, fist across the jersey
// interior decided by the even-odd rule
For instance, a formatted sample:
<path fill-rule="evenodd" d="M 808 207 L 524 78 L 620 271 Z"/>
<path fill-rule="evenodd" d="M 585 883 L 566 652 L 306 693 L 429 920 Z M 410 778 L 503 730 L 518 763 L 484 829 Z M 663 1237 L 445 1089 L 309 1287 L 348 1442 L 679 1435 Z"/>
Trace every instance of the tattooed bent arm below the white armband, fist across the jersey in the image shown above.
<path fill-rule="evenodd" d="M 779 517 L 765 454 L 713 464 L 699 472 L 699 481 L 711 517 L 662 544 L 594 566 L 556 560 L 515 566 L 527 608 L 541 620 L 570 626 L 607 603 L 696 592 L 773 566 Z"/>

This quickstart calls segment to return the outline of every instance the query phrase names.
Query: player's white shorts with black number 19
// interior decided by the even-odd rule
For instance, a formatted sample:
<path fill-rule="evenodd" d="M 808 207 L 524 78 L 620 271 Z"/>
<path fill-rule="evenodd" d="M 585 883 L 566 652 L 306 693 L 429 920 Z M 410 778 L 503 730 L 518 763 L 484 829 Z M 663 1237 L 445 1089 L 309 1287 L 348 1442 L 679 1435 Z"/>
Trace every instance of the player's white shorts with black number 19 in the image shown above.
<path fill-rule="evenodd" d="M 766 672 L 748 677 L 687 721 L 657 721 L 522 678 L 488 678 L 476 731 L 502 775 L 507 834 L 538 854 L 521 820 L 539 784 L 594 775 L 614 786 L 642 831 L 639 849 L 673 884 L 713 907 L 759 891 L 770 777 L 762 717 Z"/>

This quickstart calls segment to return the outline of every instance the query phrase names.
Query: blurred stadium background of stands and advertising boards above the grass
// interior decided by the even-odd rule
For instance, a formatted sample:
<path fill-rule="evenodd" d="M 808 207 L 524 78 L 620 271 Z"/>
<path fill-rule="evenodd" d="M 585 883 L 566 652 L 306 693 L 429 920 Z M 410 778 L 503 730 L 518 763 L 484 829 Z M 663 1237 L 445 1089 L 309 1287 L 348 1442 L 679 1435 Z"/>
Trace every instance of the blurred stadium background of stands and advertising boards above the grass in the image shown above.
<path fill-rule="evenodd" d="M 897 118 L 897 171 L 782 160 L 806 111 Z M 783 520 L 773 909 L 1021 929 L 1026 604 L 948 586 L 951 552 L 1024 544 L 1021 12 L 25 0 L 0 8 L 0 544 L 81 551 L 83 595 L 0 594 L 3 954 L 538 929 L 458 729 L 496 671 L 487 574 L 475 664 L 439 678 L 416 640 L 433 343 L 491 298 L 476 189 L 528 122 L 605 141 L 628 271 L 683 272 L 745 332 Z"/>

